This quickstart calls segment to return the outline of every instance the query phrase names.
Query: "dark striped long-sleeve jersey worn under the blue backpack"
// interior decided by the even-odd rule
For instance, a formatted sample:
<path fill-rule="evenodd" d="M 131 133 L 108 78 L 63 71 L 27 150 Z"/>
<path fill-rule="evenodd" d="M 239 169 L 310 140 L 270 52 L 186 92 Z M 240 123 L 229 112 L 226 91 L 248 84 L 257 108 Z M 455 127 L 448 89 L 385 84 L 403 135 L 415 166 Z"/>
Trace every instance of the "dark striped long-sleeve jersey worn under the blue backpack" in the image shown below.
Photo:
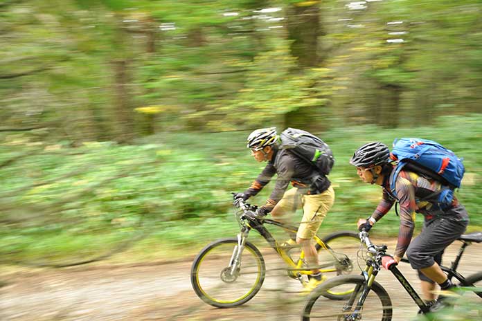
<path fill-rule="evenodd" d="M 382 185 L 383 196 L 377 205 L 372 217 L 380 220 L 395 203 L 395 199 L 391 196 L 389 186 L 389 175 L 384 179 Z M 403 257 L 405 251 L 409 247 L 415 228 L 416 213 L 424 215 L 426 221 L 434 219 L 440 210 L 433 203 L 426 201 L 427 196 L 433 195 L 435 192 L 444 188 L 438 181 L 431 178 L 420 176 L 414 172 L 400 171 L 397 181 L 395 182 L 395 193 L 400 203 L 400 228 L 398 231 L 398 242 L 395 248 L 395 255 Z M 454 196 L 452 207 L 458 205 L 458 201 Z"/>

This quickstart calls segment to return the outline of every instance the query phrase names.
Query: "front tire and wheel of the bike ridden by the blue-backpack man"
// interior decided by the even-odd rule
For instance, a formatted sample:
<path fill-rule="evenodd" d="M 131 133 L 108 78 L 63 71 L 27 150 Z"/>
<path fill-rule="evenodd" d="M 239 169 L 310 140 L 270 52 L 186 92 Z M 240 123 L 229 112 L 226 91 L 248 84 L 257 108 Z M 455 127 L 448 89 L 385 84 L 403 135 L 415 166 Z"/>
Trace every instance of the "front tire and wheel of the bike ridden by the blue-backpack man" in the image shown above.
<path fill-rule="evenodd" d="M 336 302 L 334 301 L 326 301 L 326 304 L 323 304 L 323 302 L 320 302 L 320 297 L 325 296 L 326 291 L 330 291 L 330 289 L 335 288 L 337 286 L 343 286 L 346 284 L 348 287 L 356 287 L 356 286 L 363 286 L 365 283 L 365 279 L 362 275 L 340 275 L 339 277 L 334 277 L 327 282 L 321 284 L 317 288 L 310 293 L 310 295 L 307 298 L 307 301 L 305 303 L 305 306 L 303 306 L 303 311 L 301 315 L 301 321 L 310 321 L 312 319 L 323 319 L 323 320 L 334 320 L 334 321 L 343 321 L 343 320 L 355 320 L 355 318 L 352 317 L 352 313 L 347 313 L 346 311 L 343 311 L 343 308 L 346 308 L 346 304 L 348 303 L 348 300 L 345 302 L 340 302 L 339 307 L 336 306 Z M 361 288 L 359 288 L 360 291 L 353 291 L 350 295 L 355 295 L 355 298 L 361 293 Z M 368 293 L 368 296 L 366 300 L 369 300 L 368 302 L 365 301 L 365 304 L 362 309 L 362 314 L 365 316 L 364 320 L 371 320 L 371 321 L 391 321 L 392 315 L 393 315 L 393 309 L 392 309 L 392 304 L 391 304 L 391 299 L 389 297 L 389 294 L 386 292 L 386 290 L 383 288 L 383 286 L 380 285 L 380 283 L 374 281 L 371 290 Z M 357 302 L 357 299 L 355 300 Z M 319 306 L 316 306 L 316 310 L 319 311 L 319 315 L 316 315 L 316 312 L 314 311 L 314 306 L 315 304 L 321 304 L 322 309 L 319 309 Z M 367 309 L 367 305 L 370 306 L 370 310 Z M 373 308 L 373 310 L 372 310 Z M 381 312 L 380 312 L 381 310 Z M 373 315 L 376 314 L 378 316 L 374 317 Z M 343 315 L 346 315 L 347 318 L 343 318 Z M 358 319 L 356 319 L 358 320 Z"/>

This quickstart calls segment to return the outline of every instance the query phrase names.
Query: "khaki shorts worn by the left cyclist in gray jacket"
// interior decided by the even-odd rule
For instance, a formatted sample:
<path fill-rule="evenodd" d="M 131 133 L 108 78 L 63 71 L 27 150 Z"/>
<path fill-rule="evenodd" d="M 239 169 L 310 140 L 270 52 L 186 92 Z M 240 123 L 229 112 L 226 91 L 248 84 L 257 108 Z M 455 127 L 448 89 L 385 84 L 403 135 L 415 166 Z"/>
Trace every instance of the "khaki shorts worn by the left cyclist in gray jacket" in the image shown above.
<path fill-rule="evenodd" d="M 328 190 L 321 194 L 302 195 L 298 194 L 298 189 L 292 188 L 283 195 L 278 204 L 276 204 L 273 211 L 279 214 L 293 213 L 301 204 L 303 206 L 303 219 L 301 219 L 296 237 L 300 239 L 311 239 L 318 232 L 321 222 L 325 219 L 326 213 L 330 210 L 334 203 L 333 187 L 328 187 Z M 280 217 L 281 218 L 281 217 Z"/>

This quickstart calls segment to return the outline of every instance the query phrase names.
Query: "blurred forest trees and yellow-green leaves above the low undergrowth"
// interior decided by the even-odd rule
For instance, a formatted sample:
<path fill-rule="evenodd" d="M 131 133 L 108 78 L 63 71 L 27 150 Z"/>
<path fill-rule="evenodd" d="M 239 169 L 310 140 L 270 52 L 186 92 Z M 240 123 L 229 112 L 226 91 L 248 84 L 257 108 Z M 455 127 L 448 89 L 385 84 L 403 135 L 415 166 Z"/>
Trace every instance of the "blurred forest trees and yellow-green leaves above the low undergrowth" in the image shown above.
<path fill-rule="evenodd" d="M 481 3 L 353 3 L 3 1 L 0 130 L 77 146 L 481 111 Z"/>

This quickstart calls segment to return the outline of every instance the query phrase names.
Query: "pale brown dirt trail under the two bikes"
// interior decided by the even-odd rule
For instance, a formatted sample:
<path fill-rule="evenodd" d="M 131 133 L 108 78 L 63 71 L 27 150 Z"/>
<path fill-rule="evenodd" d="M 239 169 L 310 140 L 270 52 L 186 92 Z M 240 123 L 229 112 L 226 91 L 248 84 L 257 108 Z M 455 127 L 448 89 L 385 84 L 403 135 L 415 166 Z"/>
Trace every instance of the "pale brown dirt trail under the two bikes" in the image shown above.
<path fill-rule="evenodd" d="M 389 248 L 394 245 L 390 242 Z M 464 275 L 481 270 L 481 249 L 477 244 L 467 250 L 460 268 Z M 457 250 L 447 250 L 445 264 L 452 262 Z M 199 300 L 190 285 L 190 262 L 4 272 L 0 279 L 7 285 L 0 288 L 0 320 L 299 320 L 304 297 L 280 288 L 299 291 L 301 285 L 274 270 L 280 267 L 276 255 L 265 259 L 268 272 L 262 290 L 237 309 L 215 309 Z M 410 266 L 402 264 L 400 269 L 419 291 Z M 382 271 L 377 281 L 391 295 L 394 321 L 416 314 L 411 297 L 391 273 Z"/>

